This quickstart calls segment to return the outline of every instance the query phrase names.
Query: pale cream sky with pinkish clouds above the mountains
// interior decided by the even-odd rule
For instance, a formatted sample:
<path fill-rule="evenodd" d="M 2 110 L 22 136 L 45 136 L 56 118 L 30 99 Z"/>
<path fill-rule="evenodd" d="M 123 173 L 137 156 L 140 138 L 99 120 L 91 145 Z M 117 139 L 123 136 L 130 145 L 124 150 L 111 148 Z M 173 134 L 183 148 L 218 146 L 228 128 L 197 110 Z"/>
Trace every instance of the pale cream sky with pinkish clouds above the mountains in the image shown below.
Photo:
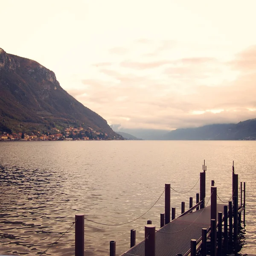
<path fill-rule="evenodd" d="M 0 47 L 122 128 L 256 118 L 256 1 L 2 0 Z"/>

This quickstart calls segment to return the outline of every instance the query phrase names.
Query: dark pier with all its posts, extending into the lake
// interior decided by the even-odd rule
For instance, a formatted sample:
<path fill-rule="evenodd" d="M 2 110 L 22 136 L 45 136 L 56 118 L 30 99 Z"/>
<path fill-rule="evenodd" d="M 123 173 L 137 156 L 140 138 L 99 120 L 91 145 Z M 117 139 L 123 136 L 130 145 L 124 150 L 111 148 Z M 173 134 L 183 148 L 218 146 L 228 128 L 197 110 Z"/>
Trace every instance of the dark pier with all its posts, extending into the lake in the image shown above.
<path fill-rule="evenodd" d="M 245 183 L 240 183 L 239 195 L 238 175 L 233 163 L 230 200 L 217 204 L 217 187 L 212 180 L 211 195 L 206 202 L 206 170 L 204 162 L 196 204 L 193 206 L 193 198 L 189 198 L 189 210 L 185 212 L 182 202 L 181 215 L 177 218 L 174 207 L 171 212 L 171 186 L 165 184 L 165 213 L 160 214 L 160 229 L 156 230 L 152 221 L 148 221 L 145 239 L 137 245 L 136 230 L 131 230 L 131 249 L 121 256 L 195 256 L 199 251 L 201 256 L 216 256 L 227 255 L 233 250 L 239 227 L 242 222 L 245 225 Z M 84 215 L 76 215 L 75 222 L 75 256 L 84 256 Z M 115 241 L 110 241 L 110 256 L 116 256 Z"/>

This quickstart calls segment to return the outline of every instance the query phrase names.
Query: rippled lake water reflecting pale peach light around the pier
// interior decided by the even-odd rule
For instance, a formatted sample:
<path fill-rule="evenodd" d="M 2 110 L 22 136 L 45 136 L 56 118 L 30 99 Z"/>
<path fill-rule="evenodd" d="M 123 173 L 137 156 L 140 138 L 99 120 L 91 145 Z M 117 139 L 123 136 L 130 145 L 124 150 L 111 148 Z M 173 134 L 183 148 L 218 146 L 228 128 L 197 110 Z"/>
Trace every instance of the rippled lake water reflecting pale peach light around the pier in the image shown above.
<path fill-rule="evenodd" d="M 256 254 L 256 142 L 253 141 L 60 141 L 0 143 L 0 254 L 40 255 L 71 225 L 76 213 L 105 224 L 131 221 L 159 198 L 165 183 L 181 192 L 198 181 L 207 164 L 207 198 L 211 180 L 218 195 L 232 195 L 232 161 L 239 182 L 246 182 L 245 244 L 241 253 Z M 171 207 L 199 192 L 171 192 Z M 194 199 L 195 200 L 195 199 Z M 137 243 L 151 219 L 160 227 L 164 196 L 142 218 L 123 226 L 85 221 L 87 256 L 129 249 L 130 230 Z M 44 254 L 45 255 L 45 254 Z M 74 255 L 74 226 L 47 255 Z"/>

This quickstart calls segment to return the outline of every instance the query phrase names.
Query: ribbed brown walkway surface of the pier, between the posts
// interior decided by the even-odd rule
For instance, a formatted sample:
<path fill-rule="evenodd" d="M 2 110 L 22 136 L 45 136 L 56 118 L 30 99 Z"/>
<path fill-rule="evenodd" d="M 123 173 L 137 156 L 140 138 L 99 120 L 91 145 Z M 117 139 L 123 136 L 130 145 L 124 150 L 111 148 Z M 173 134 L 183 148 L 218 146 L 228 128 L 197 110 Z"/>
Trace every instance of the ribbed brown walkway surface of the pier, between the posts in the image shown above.
<path fill-rule="evenodd" d="M 224 204 L 217 204 L 217 212 L 223 213 Z M 201 240 L 202 228 L 211 225 L 211 207 L 205 207 L 176 218 L 156 232 L 156 256 L 187 255 L 191 239 Z M 135 245 L 122 256 L 144 256 L 145 240 Z"/>

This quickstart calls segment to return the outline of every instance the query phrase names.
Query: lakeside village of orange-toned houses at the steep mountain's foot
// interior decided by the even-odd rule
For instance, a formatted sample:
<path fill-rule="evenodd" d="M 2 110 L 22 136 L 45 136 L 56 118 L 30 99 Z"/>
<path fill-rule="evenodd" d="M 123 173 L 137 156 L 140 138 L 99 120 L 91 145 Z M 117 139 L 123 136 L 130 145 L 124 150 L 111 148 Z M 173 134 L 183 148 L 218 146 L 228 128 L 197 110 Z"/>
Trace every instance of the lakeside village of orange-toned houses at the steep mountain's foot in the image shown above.
<path fill-rule="evenodd" d="M 0 134 L 1 141 L 22 141 L 22 140 L 111 140 L 108 137 L 108 134 L 94 131 L 92 128 L 88 127 L 85 130 L 82 127 L 79 128 L 66 128 L 63 132 L 58 130 L 57 128 L 52 128 L 52 131 L 55 132 L 54 134 L 51 132 L 40 132 L 38 131 L 37 134 L 33 132 L 24 133 L 19 132 L 17 134 L 12 133 L 9 134 L 7 132 L 3 132 Z M 116 140 L 120 140 L 120 138 L 116 138 Z"/>

